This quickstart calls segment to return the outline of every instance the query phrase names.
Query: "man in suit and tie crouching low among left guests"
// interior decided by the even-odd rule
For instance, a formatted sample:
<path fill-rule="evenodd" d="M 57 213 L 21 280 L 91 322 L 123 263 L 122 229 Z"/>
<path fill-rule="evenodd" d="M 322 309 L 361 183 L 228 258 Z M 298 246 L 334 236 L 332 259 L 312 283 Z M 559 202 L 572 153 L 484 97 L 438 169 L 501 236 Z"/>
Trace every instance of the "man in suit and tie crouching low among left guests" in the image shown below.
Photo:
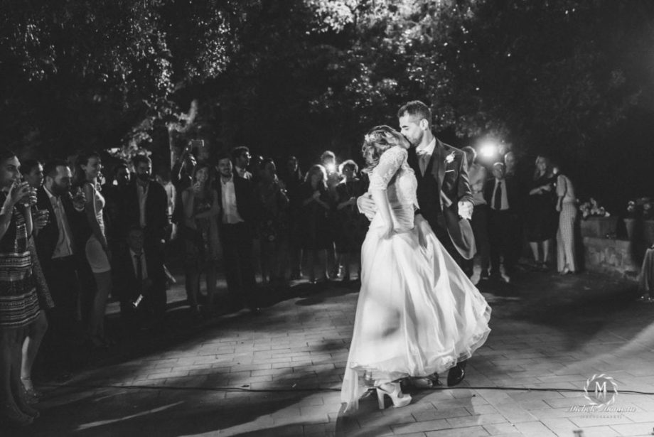
<path fill-rule="evenodd" d="M 161 323 L 166 313 L 166 274 L 161 252 L 144 247 L 144 232 L 132 226 L 127 249 L 114 261 L 120 313 L 129 333 L 136 323 L 151 318 Z"/>

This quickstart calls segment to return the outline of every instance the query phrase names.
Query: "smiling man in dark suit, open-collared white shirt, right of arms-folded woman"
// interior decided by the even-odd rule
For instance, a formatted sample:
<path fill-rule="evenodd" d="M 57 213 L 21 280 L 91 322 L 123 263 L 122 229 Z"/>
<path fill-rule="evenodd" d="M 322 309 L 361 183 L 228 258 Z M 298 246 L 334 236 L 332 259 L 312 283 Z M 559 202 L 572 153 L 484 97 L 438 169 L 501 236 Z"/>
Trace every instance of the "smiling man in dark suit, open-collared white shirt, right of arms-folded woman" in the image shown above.
<path fill-rule="evenodd" d="M 220 202 L 220 242 L 223 244 L 227 287 L 236 303 L 242 301 L 252 312 L 259 313 L 252 257 L 252 185 L 250 180 L 233 173 L 229 155 L 218 155 L 217 162 L 218 180 L 215 187 Z"/>

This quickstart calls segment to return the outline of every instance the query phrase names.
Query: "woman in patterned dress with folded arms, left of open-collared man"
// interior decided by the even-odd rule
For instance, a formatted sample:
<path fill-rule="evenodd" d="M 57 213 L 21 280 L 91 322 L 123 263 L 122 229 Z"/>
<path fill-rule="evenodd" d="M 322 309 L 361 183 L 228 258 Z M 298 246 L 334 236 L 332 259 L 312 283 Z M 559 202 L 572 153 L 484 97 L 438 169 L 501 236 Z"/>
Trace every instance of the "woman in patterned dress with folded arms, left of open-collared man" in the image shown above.
<path fill-rule="evenodd" d="M 220 254 L 218 222 L 220 213 L 218 192 L 212 188 L 210 168 L 199 163 L 193 169 L 193 185 L 182 193 L 184 207 L 184 244 L 186 247 L 186 294 L 191 311 L 199 314 L 200 274 L 207 280 L 209 312 L 215 308 L 216 264 Z"/>

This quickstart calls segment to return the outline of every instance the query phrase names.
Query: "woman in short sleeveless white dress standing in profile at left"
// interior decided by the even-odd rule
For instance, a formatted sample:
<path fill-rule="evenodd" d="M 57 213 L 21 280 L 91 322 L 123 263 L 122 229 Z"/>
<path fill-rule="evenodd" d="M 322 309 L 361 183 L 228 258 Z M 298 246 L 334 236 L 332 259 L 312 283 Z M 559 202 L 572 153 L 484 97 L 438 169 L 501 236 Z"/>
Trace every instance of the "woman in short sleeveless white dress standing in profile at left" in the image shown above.
<path fill-rule="evenodd" d="M 93 296 L 88 318 L 87 341 L 92 347 L 107 347 L 110 342 L 104 333 L 104 312 L 107 298 L 112 289 L 112 268 L 109 264 L 111 251 L 104 232 L 104 196 L 100 194 L 98 177 L 102 171 L 102 160 L 97 152 L 82 153 L 75 166 L 75 185 L 86 197 L 84 210 L 90 227 L 90 237 L 84 250 L 95 279 Z"/>

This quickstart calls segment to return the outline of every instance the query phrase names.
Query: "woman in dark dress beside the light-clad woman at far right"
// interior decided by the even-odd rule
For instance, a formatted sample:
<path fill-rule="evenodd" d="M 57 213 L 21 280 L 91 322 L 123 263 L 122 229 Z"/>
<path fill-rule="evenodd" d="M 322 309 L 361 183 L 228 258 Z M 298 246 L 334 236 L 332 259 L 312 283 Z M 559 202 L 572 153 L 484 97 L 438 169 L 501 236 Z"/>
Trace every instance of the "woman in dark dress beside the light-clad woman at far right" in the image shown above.
<path fill-rule="evenodd" d="M 527 241 L 534 254 L 535 265 L 543 270 L 547 270 L 552 240 L 557 234 L 557 195 L 554 185 L 556 176 L 552 173 L 550 160 L 538 156 L 527 198 Z"/>

